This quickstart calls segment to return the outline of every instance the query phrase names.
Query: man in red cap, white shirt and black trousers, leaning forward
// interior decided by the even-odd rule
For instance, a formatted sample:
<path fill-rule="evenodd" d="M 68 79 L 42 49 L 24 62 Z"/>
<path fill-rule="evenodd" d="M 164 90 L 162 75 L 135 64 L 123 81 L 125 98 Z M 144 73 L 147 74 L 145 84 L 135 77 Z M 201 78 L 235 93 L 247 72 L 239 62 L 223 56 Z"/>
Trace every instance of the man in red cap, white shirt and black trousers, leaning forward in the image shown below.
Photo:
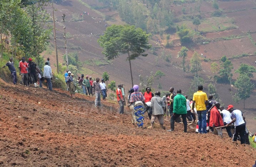
<path fill-rule="evenodd" d="M 241 144 L 245 144 L 245 121 L 242 112 L 239 109 L 234 109 L 234 106 L 231 104 L 227 107 L 227 110 L 231 113 L 232 120 L 226 124 L 226 127 L 232 123 L 235 124 L 233 141 L 236 141 L 239 135 Z"/>

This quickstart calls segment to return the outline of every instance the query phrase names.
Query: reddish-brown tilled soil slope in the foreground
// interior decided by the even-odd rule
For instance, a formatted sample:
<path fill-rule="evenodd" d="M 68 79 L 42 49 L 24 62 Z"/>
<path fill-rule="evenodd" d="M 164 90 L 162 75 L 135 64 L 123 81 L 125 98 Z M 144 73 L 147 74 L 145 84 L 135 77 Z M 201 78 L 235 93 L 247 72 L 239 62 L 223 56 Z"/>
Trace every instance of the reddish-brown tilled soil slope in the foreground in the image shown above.
<path fill-rule="evenodd" d="M 256 153 L 224 133 L 199 135 L 175 123 L 173 133 L 134 128 L 117 102 L 67 91 L 14 86 L 0 80 L 0 166 L 224 166 L 249 167 Z M 78 114 L 75 112 L 83 114 Z M 149 119 L 145 118 L 146 126 Z M 165 120 L 165 126 L 170 122 Z M 195 125 L 191 125 L 195 127 Z M 225 130 L 224 130 L 225 131 Z"/>

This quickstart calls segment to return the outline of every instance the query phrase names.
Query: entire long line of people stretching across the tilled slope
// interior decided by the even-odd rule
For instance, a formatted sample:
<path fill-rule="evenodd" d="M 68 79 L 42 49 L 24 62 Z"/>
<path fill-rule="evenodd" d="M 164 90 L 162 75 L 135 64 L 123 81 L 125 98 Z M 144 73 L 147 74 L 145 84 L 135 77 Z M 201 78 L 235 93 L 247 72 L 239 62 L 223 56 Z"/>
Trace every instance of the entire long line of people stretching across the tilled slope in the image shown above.
<path fill-rule="evenodd" d="M 13 84 L 16 85 L 17 74 L 13 59 L 10 58 L 2 68 L 5 66 L 8 66 Z M 45 81 L 47 82 L 49 90 L 52 90 L 52 71 L 49 58 L 47 58 L 45 62 L 44 72 L 42 74 L 31 58 L 28 59 L 27 63 L 25 57 L 22 57 L 19 62 L 19 75 L 21 75 L 20 85 L 29 86 L 31 84 L 37 87 L 37 81 L 39 80 L 39 87 L 42 87 L 42 81 Z M 74 74 L 70 71 L 66 71 L 65 80 L 72 98 L 75 98 L 76 85 L 78 84 L 81 86 L 84 94 L 95 96 L 94 107 L 101 106 L 101 96 L 103 100 L 106 100 L 108 90 L 104 79 L 101 79 L 100 82 L 99 77 L 97 77 L 96 80 L 93 81 L 91 76 L 86 75 L 84 78 L 84 74 L 82 74 L 81 77 L 76 80 L 76 84 Z M 129 111 L 131 112 L 131 122 L 134 126 L 144 127 L 144 113 L 147 112 L 151 120 L 151 125 L 147 128 L 154 128 L 154 123 L 157 118 L 160 127 L 166 129 L 163 121 L 164 114 L 170 114 L 170 129 L 167 131 L 174 131 L 175 122 L 180 123 L 182 118 L 185 133 L 187 132 L 188 119 L 189 122 L 197 121 L 198 128 L 196 132 L 198 134 L 206 134 L 210 131 L 222 138 L 222 129 L 225 128 L 227 134 L 233 141 L 240 140 L 241 144 L 250 144 L 248 138 L 249 131 L 246 128 L 245 117 L 239 109 L 234 109 L 232 104 L 224 109 L 223 106 L 220 106 L 219 102 L 213 99 L 213 95 L 207 97 L 206 93 L 203 92 L 202 85 L 198 86 L 198 91 L 194 93 L 191 100 L 187 99 L 188 97 L 182 95 L 181 92 L 181 89 L 175 92 L 174 88 L 171 87 L 169 93 L 160 97 L 160 91 L 156 91 L 154 94 L 151 92 L 151 88 L 147 87 L 146 91 L 142 93 L 139 86 L 134 85 L 130 88 L 129 95 L 126 97 L 124 85 L 120 84 L 116 89 L 116 97 L 120 106 L 119 113 L 124 114 L 124 106 L 126 106 L 127 101 L 127 107 L 129 107 Z M 196 117 L 198 119 L 196 119 Z M 232 129 L 234 129 L 234 133 L 232 133 Z M 255 136 L 254 140 L 254 142 L 256 142 Z"/>

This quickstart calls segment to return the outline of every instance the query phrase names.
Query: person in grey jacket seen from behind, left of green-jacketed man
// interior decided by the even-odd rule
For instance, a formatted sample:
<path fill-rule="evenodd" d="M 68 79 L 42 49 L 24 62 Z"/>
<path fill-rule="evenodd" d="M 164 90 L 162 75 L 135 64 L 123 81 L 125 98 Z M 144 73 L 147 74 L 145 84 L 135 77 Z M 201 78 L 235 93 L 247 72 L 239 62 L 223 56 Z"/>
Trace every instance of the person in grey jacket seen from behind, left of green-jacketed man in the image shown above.
<path fill-rule="evenodd" d="M 151 118 L 151 126 L 147 128 L 153 128 L 156 118 L 159 120 L 160 127 L 165 129 L 164 127 L 164 108 L 165 102 L 160 97 L 160 91 L 156 92 L 156 96 L 151 98 L 151 106 L 152 106 L 152 118 Z"/>

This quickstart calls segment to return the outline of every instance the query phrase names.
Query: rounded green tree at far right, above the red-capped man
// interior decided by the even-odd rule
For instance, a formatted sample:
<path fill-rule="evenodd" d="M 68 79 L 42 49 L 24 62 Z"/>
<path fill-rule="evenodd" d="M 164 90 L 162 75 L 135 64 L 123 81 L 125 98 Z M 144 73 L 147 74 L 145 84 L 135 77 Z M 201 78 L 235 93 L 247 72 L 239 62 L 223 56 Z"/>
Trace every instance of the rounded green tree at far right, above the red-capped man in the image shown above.
<path fill-rule="evenodd" d="M 244 100 L 244 108 L 245 108 L 245 100 L 249 98 L 251 93 L 253 92 L 254 84 L 251 82 L 249 76 L 239 75 L 239 77 L 235 82 L 235 86 L 237 88 L 236 96 Z"/>

